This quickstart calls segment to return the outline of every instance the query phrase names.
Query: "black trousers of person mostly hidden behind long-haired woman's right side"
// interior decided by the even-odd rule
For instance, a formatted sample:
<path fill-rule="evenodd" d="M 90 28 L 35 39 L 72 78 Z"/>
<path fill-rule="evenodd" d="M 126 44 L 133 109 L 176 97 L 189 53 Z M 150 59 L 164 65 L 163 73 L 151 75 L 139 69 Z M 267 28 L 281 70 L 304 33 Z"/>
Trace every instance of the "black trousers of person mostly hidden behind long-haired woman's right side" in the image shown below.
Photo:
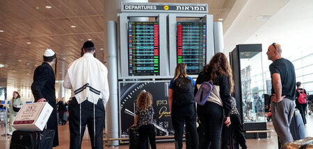
<path fill-rule="evenodd" d="M 230 144 L 230 139 L 232 139 L 230 138 L 230 134 L 232 132 L 236 141 L 240 144 L 241 148 L 247 148 L 246 138 L 243 134 L 242 129 L 241 117 L 238 114 L 230 114 L 230 121 L 232 124 L 230 124 L 229 127 L 223 124 L 222 149 L 227 149 L 232 146 L 232 144 Z M 228 144 L 230 144 L 230 146 L 228 146 Z"/>

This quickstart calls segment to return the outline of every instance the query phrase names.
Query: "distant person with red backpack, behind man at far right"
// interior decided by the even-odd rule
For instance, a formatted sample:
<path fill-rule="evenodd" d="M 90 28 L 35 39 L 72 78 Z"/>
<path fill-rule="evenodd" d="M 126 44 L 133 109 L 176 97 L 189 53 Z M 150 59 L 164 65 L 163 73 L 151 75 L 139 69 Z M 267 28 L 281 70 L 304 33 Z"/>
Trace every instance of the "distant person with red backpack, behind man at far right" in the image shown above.
<path fill-rule="evenodd" d="M 301 88 L 301 82 L 297 82 L 297 89 L 296 89 L 296 108 L 300 110 L 300 114 L 304 124 L 307 124 L 307 119 L 305 119 L 305 110 L 307 109 L 307 103 L 299 103 L 298 98 L 300 94 L 307 94 L 305 89 Z"/>

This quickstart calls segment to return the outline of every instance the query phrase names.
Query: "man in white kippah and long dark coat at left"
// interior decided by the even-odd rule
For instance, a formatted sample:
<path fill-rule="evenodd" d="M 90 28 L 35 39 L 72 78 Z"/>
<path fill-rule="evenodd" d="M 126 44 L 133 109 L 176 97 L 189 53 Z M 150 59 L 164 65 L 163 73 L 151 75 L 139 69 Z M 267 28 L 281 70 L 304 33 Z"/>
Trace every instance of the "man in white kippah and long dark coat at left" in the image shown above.
<path fill-rule="evenodd" d="M 58 121 L 56 117 L 56 89 L 54 87 L 56 71 L 52 69 L 53 64 L 55 64 L 56 69 L 56 53 L 51 49 L 47 49 L 43 55 L 42 64 L 33 73 L 31 91 L 35 102 L 47 101 L 54 108 L 47 122 L 47 129 L 55 131 L 53 145 L 55 147 L 58 146 Z"/>

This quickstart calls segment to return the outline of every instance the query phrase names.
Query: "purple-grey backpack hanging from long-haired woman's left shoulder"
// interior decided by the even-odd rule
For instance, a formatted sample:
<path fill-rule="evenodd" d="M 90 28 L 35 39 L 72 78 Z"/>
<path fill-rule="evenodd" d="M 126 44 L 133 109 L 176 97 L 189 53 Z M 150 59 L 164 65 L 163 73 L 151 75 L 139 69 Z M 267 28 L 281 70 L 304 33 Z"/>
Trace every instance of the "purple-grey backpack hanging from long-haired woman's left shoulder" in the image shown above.
<path fill-rule="evenodd" d="M 202 82 L 197 94 L 195 94 L 195 102 L 197 102 L 199 105 L 204 105 L 204 103 L 207 102 L 207 99 L 211 95 L 212 90 L 212 81 Z"/>

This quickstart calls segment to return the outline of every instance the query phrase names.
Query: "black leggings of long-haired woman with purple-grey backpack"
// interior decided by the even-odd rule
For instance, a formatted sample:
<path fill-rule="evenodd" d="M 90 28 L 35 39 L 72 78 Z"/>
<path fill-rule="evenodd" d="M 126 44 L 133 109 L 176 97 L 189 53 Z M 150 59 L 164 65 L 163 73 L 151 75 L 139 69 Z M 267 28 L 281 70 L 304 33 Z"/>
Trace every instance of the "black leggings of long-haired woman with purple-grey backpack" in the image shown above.
<path fill-rule="evenodd" d="M 200 149 L 220 148 L 220 134 L 223 125 L 223 107 L 207 101 L 204 105 L 198 105 L 198 117 L 204 129 L 204 136 L 200 141 Z"/>

